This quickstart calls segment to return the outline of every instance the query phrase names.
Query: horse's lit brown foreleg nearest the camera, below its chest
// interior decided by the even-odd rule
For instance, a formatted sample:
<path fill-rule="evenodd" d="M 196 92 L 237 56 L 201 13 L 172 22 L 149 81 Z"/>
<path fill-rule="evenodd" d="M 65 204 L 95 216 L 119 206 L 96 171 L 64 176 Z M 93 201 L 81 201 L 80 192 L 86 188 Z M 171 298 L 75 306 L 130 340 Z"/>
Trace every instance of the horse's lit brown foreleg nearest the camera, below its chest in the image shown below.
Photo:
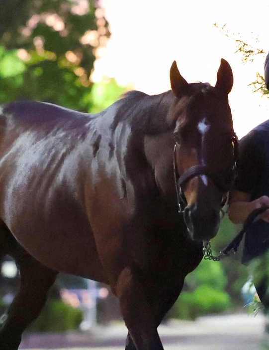
<path fill-rule="evenodd" d="M 125 350 L 163 350 L 143 287 L 130 269 L 121 272 L 116 294 L 129 331 Z"/>

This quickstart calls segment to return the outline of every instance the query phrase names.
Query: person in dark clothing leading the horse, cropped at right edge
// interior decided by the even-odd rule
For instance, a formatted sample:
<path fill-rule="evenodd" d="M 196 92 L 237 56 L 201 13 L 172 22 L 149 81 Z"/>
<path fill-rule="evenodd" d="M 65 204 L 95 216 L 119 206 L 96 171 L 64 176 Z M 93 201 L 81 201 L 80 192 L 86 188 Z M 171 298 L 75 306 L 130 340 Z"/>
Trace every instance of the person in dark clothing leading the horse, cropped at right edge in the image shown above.
<path fill-rule="evenodd" d="M 269 54 L 265 61 L 265 82 L 269 89 Z M 238 175 L 230 193 L 229 219 L 244 223 L 256 208 L 269 207 L 269 120 L 258 125 L 239 142 Z M 269 209 L 246 233 L 242 263 L 248 264 L 269 251 Z M 265 269 L 266 270 L 266 269 Z M 269 276 L 253 276 L 261 302 L 269 312 Z"/>

